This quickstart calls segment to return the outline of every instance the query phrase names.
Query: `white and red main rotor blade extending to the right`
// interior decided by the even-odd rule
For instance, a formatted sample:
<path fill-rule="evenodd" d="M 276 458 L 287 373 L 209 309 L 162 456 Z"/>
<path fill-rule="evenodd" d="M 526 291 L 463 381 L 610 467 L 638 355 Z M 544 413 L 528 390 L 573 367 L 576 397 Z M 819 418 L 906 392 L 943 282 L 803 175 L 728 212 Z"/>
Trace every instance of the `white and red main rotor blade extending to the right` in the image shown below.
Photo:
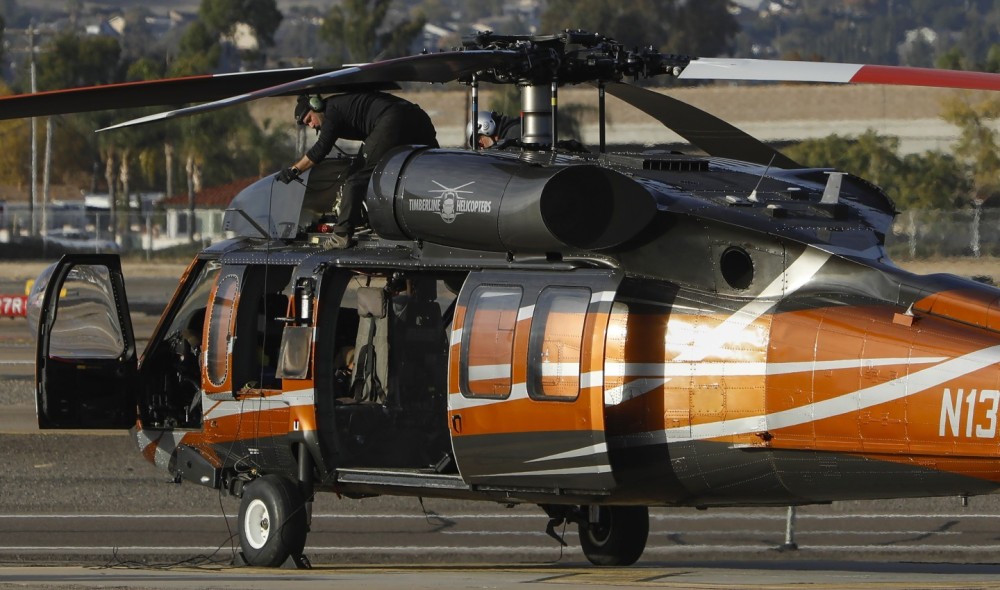
<path fill-rule="evenodd" d="M 1000 74 L 986 72 L 766 59 L 692 59 L 678 78 L 682 80 L 889 84 L 1000 90 Z"/>

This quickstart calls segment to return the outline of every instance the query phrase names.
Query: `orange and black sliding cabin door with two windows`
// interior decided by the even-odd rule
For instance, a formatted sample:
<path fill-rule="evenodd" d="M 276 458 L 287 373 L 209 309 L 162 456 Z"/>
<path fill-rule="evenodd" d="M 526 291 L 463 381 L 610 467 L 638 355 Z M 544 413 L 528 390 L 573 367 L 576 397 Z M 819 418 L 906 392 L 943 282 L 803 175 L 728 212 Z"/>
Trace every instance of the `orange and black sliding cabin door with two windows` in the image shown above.
<path fill-rule="evenodd" d="M 472 485 L 604 494 L 604 342 L 621 276 L 472 273 L 452 331 L 449 425 Z"/>

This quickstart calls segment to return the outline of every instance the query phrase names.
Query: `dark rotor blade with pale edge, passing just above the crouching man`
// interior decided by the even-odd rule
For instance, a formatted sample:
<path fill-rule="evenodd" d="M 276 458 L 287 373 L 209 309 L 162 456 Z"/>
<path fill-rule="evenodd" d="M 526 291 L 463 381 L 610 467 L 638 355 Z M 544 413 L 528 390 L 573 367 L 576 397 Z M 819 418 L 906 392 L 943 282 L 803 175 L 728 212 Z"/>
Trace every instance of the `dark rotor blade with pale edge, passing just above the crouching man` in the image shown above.
<path fill-rule="evenodd" d="M 157 113 L 147 117 L 132 119 L 117 125 L 105 127 L 98 131 L 108 131 L 133 125 L 142 125 L 155 121 L 163 121 L 207 113 L 227 106 L 241 104 L 259 98 L 269 96 L 280 96 L 284 94 L 301 93 L 306 90 L 315 90 L 319 87 L 330 84 L 377 84 L 384 82 L 431 82 L 444 83 L 451 82 L 464 77 L 472 76 L 474 73 L 507 65 L 514 60 L 522 59 L 522 55 L 515 51 L 486 50 L 486 51 L 452 51 L 445 53 L 429 53 L 400 57 L 381 62 L 364 64 L 359 66 L 346 67 L 341 70 L 327 72 L 285 82 L 246 92 L 236 96 L 229 96 L 213 102 Z"/>

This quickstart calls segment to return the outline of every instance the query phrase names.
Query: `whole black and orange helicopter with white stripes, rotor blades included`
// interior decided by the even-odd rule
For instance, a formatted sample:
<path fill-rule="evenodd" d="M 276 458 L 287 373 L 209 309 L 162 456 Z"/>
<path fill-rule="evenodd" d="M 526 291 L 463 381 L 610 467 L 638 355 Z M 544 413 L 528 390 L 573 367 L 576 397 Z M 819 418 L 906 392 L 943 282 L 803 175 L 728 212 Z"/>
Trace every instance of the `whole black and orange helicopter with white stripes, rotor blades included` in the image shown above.
<path fill-rule="evenodd" d="M 129 125 L 400 81 L 469 85 L 472 120 L 481 82 L 522 96 L 504 149 L 379 162 L 371 231 L 350 249 L 316 243 L 341 160 L 251 185 L 227 213 L 237 237 L 191 262 L 141 358 L 117 257 L 64 258 L 31 296 L 39 426 L 131 428 L 178 481 L 240 497 L 260 566 L 299 560 L 319 492 L 536 504 L 550 531 L 579 525 L 591 562 L 621 565 L 650 506 L 996 491 L 1000 290 L 898 268 L 881 189 L 628 83 L 654 75 L 1000 90 L 991 74 L 565 32 L 2 99 L 8 118 L 214 100 Z M 582 83 L 602 115 L 594 152 L 563 149 L 556 125 L 558 89 Z M 699 153 L 608 153 L 606 94 Z"/>

